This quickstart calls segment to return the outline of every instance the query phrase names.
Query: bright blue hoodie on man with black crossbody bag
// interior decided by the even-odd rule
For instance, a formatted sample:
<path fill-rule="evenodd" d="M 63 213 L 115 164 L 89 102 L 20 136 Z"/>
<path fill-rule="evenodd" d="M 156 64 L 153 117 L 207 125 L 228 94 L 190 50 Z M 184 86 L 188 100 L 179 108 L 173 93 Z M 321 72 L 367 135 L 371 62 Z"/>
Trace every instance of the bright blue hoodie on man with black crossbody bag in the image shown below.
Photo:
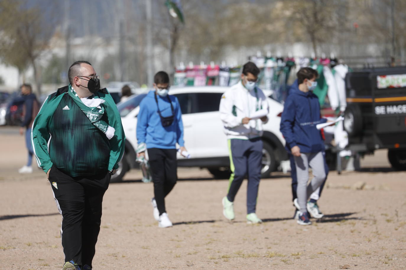
<path fill-rule="evenodd" d="M 164 98 L 159 95 L 156 97 L 162 117 L 171 116 L 173 113 L 173 123 L 167 127 L 162 126 L 155 101 L 155 91 L 149 91 L 140 102 L 140 112 L 137 117 L 138 144 L 145 142 L 147 148 L 175 149 L 178 143 L 183 147 L 183 123 L 179 101 L 175 96 L 170 95 Z M 171 100 L 173 112 L 168 98 Z"/>

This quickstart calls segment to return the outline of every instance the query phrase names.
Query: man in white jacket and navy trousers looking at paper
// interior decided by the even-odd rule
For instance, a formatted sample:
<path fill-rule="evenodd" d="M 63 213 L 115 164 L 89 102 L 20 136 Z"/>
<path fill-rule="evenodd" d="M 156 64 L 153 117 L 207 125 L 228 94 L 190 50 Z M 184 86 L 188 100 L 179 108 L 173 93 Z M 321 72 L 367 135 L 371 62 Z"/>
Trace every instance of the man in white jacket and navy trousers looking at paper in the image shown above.
<path fill-rule="evenodd" d="M 231 176 L 227 196 L 222 199 L 223 215 L 233 220 L 234 198 L 247 175 L 247 223 L 261 223 L 257 205 L 262 160 L 262 125 L 268 121 L 266 96 L 256 84 L 260 70 L 253 62 L 242 68 L 241 81 L 221 97 L 220 119 L 227 135 Z"/>

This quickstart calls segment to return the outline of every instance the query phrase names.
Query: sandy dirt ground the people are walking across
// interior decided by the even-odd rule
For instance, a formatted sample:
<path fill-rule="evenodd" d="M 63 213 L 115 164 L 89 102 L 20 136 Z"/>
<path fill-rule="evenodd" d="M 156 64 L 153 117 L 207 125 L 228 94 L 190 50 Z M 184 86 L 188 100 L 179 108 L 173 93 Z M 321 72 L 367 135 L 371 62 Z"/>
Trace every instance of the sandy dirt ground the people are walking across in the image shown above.
<path fill-rule="evenodd" d="M 0 149 L 0 269 L 62 269 L 61 216 L 45 174 L 17 173 L 26 162 L 18 129 L 0 127 Z M 330 172 L 319 200 L 326 217 L 311 226 L 292 219 L 289 174 L 261 180 L 264 222 L 248 225 L 246 184 L 229 222 L 221 206 L 228 181 L 180 168 L 166 199 L 174 226 L 164 229 L 153 219 L 152 184 L 133 170 L 104 196 L 93 269 L 405 269 L 406 172 L 391 170 L 382 150 L 361 166 Z"/>

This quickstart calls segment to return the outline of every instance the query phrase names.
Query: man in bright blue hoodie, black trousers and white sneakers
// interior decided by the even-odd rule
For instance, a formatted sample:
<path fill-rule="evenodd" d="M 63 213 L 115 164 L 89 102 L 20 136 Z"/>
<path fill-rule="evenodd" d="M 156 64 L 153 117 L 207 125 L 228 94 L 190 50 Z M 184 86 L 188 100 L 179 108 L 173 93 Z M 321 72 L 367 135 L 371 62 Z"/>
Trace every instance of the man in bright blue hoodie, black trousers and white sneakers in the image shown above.
<path fill-rule="evenodd" d="M 137 154 L 145 158 L 148 151 L 154 185 L 153 216 L 159 227 L 171 227 L 165 209 L 165 197 L 177 181 L 176 143 L 181 153 L 186 151 L 183 140 L 182 113 L 179 101 L 168 95 L 169 76 L 160 71 L 154 76 L 153 87 L 140 103 L 137 121 Z"/>

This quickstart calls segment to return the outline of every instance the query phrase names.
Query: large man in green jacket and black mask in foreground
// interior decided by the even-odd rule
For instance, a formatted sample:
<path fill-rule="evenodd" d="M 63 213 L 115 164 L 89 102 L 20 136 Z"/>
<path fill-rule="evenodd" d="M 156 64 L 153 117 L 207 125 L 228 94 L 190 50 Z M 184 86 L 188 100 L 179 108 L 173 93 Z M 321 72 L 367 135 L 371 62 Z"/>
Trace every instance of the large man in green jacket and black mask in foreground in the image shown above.
<path fill-rule="evenodd" d="M 89 270 L 100 230 L 102 200 L 124 152 L 121 118 L 89 62 L 68 71 L 69 85 L 48 96 L 32 125 L 38 166 L 62 215 L 63 270 Z"/>

